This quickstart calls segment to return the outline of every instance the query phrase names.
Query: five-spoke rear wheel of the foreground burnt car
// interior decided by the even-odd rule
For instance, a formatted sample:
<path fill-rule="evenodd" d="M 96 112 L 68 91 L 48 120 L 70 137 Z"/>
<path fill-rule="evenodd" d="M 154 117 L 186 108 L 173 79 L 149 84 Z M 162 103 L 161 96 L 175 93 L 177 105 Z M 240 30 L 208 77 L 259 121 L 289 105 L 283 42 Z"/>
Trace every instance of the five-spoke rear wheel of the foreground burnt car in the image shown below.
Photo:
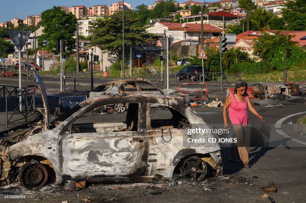
<path fill-rule="evenodd" d="M 199 157 L 189 157 L 181 166 L 181 175 L 190 182 L 200 182 L 207 174 L 207 165 Z"/>

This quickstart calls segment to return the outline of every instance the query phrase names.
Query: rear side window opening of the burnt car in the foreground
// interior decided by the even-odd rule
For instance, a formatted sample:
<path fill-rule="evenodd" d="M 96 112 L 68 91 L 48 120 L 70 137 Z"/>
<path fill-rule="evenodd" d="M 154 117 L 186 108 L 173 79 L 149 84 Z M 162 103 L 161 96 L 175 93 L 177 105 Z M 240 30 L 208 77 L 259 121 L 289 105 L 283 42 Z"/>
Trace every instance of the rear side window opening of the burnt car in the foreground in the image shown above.
<path fill-rule="evenodd" d="M 151 105 L 151 128 L 173 129 L 188 128 L 189 121 L 180 112 L 166 106 Z"/>

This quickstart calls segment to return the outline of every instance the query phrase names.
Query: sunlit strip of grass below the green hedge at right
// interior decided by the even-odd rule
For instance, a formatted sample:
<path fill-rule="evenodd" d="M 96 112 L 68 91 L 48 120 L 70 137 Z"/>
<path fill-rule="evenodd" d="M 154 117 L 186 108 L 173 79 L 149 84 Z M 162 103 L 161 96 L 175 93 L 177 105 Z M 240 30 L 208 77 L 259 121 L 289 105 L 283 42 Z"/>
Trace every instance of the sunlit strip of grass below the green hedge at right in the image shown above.
<path fill-rule="evenodd" d="M 306 75 L 306 69 L 305 68 L 292 68 L 287 70 L 287 77 L 293 76 L 293 75 Z M 284 71 L 274 71 L 271 73 L 258 73 L 258 74 L 244 74 L 242 76 L 243 80 L 247 82 L 266 82 L 267 79 L 270 79 L 274 82 L 283 82 L 284 81 Z M 303 81 L 306 80 L 306 77 L 289 77 L 289 81 L 297 82 L 297 81 Z"/>

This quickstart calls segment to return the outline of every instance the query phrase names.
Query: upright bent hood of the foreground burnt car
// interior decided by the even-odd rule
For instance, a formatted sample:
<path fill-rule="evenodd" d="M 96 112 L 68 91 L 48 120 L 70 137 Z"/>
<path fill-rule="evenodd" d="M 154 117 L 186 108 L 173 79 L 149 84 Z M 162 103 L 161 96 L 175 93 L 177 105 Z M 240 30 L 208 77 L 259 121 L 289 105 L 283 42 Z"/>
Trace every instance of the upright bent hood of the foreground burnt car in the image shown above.
<path fill-rule="evenodd" d="M 44 114 L 44 129 L 47 130 L 49 129 L 49 122 L 50 122 L 50 112 L 49 112 L 49 105 L 48 105 L 48 99 L 47 99 L 47 92 L 46 92 L 46 88 L 45 88 L 45 84 L 43 83 L 43 79 L 41 79 L 41 77 L 36 74 L 34 72 L 34 78 L 33 78 L 33 82 L 35 82 L 39 89 L 40 89 L 40 93 L 41 93 L 41 98 L 43 100 L 43 108 L 45 109 L 45 114 Z"/>

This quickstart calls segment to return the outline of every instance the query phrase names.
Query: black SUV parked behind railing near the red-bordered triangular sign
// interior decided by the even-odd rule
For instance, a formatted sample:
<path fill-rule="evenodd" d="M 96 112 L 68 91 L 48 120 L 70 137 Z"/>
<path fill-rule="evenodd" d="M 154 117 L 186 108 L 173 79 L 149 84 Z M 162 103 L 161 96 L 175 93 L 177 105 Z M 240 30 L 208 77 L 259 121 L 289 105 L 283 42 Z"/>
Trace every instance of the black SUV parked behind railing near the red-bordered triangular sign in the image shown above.
<path fill-rule="evenodd" d="M 200 81 L 200 75 L 202 73 L 202 66 L 186 66 L 180 72 L 176 74 L 177 80 L 190 80 L 190 81 Z M 208 76 L 208 71 L 204 66 L 204 76 Z M 203 81 L 202 77 L 202 81 Z"/>

